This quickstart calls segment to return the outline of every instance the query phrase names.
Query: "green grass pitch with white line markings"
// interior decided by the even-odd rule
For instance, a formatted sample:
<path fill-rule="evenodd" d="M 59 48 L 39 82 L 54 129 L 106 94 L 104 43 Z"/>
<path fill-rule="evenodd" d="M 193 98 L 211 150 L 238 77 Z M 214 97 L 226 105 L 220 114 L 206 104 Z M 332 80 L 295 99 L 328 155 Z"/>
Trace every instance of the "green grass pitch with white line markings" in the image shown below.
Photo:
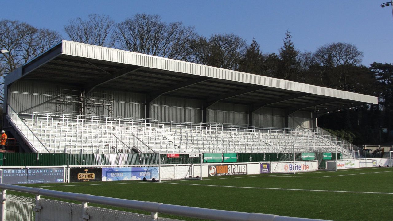
<path fill-rule="evenodd" d="M 165 182 L 114 181 L 26 186 L 140 201 L 314 219 L 393 220 L 392 168 L 361 168 L 296 174 L 270 173 Z M 43 198 L 47 197 L 43 196 Z M 165 214 L 159 216 L 198 220 Z"/>

